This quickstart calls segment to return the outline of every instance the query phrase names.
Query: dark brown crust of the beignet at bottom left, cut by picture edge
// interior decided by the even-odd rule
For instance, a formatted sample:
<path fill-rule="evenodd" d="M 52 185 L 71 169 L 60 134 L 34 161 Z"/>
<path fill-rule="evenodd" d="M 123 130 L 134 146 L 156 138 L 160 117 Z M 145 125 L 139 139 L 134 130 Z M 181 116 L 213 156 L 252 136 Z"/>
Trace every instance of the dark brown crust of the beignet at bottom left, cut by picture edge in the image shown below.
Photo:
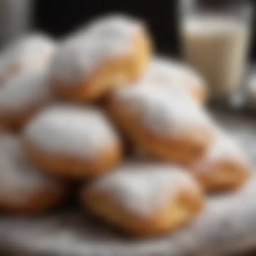
<path fill-rule="evenodd" d="M 11 214 L 41 214 L 62 203 L 67 194 L 68 186 L 59 183 L 54 188 L 34 191 L 26 200 L 20 202 L 14 202 L 10 197 L 2 196 L 0 211 Z"/>

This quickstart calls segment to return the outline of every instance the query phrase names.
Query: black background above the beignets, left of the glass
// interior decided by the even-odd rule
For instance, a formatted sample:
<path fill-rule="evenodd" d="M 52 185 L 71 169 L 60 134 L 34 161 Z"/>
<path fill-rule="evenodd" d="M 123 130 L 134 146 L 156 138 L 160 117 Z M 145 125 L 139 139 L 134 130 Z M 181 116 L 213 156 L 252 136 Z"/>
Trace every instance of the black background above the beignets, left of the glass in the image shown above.
<path fill-rule="evenodd" d="M 36 29 L 61 38 L 91 18 L 109 12 L 143 18 L 153 34 L 157 51 L 179 55 L 178 0 L 36 0 L 33 24 Z M 254 38 L 250 58 L 256 60 Z"/>

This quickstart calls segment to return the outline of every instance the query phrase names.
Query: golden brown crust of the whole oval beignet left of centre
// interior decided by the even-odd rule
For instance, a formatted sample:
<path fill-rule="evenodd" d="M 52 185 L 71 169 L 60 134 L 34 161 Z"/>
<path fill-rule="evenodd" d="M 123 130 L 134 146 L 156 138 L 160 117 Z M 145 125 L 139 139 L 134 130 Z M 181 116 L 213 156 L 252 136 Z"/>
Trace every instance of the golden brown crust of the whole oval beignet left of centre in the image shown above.
<path fill-rule="evenodd" d="M 116 166 L 122 158 L 120 144 L 106 148 L 100 155 L 90 160 L 76 156 L 50 154 L 28 142 L 24 142 L 23 145 L 34 164 L 51 174 L 71 178 L 89 178 L 104 174 Z"/>

